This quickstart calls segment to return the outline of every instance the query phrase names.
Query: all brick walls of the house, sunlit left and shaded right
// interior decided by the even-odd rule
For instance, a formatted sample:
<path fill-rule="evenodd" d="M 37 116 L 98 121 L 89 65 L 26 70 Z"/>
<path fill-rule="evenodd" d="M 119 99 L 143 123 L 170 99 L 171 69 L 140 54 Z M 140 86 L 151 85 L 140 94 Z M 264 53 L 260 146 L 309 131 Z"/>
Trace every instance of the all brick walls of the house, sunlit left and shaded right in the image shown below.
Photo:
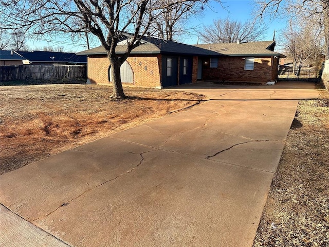
<path fill-rule="evenodd" d="M 192 83 L 197 81 L 198 59 L 202 59 L 203 61 L 203 80 L 266 83 L 268 81 L 276 80 L 278 77 L 278 58 L 255 57 L 253 70 L 245 70 L 244 57 L 219 57 L 218 67 L 210 68 L 209 58 L 198 58 L 197 56 L 194 56 L 192 61 Z M 131 55 L 127 58 L 127 63 L 130 64 L 133 70 L 133 85 L 161 87 L 161 55 Z M 108 67 L 109 61 L 106 55 L 89 55 L 88 78 L 90 82 L 108 84 Z"/>

